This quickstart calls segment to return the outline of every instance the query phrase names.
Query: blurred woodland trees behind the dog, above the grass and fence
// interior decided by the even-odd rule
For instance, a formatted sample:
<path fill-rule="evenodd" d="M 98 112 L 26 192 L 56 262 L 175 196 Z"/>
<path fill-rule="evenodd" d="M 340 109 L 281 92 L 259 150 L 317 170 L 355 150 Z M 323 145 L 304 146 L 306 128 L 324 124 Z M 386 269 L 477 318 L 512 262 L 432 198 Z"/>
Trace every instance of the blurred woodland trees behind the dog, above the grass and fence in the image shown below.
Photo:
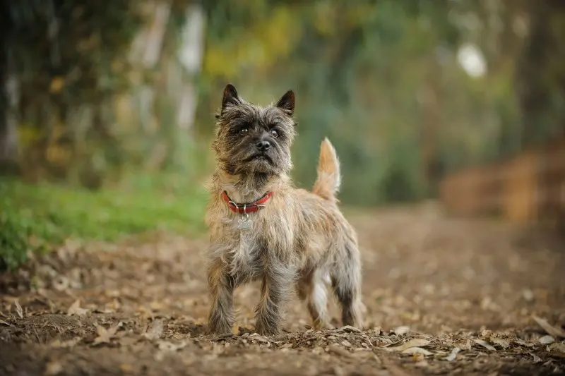
<path fill-rule="evenodd" d="M 446 171 L 563 129 L 559 0 L 3 6 L 0 158 L 19 150 L 26 176 L 196 174 L 227 82 L 261 103 L 295 89 L 295 179 L 311 185 L 329 136 L 348 203 L 433 195 Z"/>

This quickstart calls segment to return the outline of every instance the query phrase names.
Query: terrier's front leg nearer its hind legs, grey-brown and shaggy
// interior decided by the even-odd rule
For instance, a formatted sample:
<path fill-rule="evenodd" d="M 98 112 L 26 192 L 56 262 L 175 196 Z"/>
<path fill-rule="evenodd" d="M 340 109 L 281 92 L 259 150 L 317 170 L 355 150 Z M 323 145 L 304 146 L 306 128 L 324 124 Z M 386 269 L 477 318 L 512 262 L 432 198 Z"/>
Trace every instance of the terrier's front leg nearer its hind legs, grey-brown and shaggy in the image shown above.
<path fill-rule="evenodd" d="M 282 318 L 281 305 L 288 297 L 294 272 L 281 262 L 266 265 L 261 284 L 261 301 L 255 308 L 255 331 L 259 334 L 277 334 Z"/>

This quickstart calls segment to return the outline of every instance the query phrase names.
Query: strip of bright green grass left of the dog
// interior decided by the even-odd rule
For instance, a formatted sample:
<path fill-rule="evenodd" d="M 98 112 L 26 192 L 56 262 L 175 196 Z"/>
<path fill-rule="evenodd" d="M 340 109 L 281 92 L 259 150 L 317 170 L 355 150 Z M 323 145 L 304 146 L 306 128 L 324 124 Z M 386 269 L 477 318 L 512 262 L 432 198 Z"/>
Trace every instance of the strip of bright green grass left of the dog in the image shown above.
<path fill-rule="evenodd" d="M 0 269 L 21 265 L 66 238 L 114 241 L 167 229 L 203 231 L 206 193 L 178 175 L 136 175 L 99 191 L 0 177 Z"/>

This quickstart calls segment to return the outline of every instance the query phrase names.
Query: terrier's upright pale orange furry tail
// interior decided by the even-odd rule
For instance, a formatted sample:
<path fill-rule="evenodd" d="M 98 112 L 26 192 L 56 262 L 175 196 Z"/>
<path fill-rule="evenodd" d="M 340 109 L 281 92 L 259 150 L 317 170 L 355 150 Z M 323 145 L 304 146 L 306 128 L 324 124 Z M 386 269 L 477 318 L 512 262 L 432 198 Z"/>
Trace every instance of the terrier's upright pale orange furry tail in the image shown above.
<path fill-rule="evenodd" d="M 320 160 L 318 162 L 318 178 L 312 192 L 326 200 L 335 201 L 341 184 L 340 162 L 330 140 L 325 138 L 321 143 Z"/>

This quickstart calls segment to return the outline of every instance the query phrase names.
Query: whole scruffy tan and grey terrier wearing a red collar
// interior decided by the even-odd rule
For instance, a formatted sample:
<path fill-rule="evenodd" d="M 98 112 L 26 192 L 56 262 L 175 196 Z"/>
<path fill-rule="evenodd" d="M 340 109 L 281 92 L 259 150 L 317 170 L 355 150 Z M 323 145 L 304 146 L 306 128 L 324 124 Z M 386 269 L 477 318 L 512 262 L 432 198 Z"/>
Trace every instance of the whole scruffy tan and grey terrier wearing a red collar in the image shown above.
<path fill-rule="evenodd" d="M 338 157 L 321 142 L 312 192 L 292 187 L 290 145 L 295 94 L 258 107 L 224 90 L 213 141 L 217 166 L 210 181 L 208 330 L 232 332 L 234 289 L 261 280 L 255 331 L 276 334 L 293 288 L 316 329 L 331 327 L 326 285 L 341 306 L 343 325 L 362 327 L 357 234 L 338 209 Z"/>

